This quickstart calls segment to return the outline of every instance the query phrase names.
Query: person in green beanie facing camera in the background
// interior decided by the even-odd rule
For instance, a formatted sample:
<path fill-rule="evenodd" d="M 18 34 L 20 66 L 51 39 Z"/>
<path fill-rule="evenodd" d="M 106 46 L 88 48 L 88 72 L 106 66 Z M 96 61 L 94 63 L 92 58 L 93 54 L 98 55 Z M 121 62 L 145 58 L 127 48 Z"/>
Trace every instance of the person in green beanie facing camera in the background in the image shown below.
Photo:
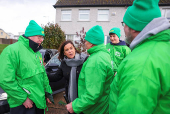
<path fill-rule="evenodd" d="M 114 27 L 109 31 L 110 43 L 106 45 L 106 49 L 110 52 L 110 56 L 114 66 L 114 74 L 122 60 L 131 52 L 126 43 L 120 40 L 120 28 Z"/>

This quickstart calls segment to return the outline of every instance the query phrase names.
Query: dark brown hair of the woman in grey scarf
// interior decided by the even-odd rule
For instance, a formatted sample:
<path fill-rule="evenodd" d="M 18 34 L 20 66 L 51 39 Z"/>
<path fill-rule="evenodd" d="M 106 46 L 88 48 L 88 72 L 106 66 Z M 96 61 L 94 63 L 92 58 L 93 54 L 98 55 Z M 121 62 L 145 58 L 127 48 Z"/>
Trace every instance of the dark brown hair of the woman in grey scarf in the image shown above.
<path fill-rule="evenodd" d="M 76 49 L 76 47 L 74 46 L 74 44 L 73 44 L 73 42 L 72 42 L 71 40 L 64 41 L 64 42 L 62 42 L 62 44 L 60 45 L 60 48 L 59 48 L 59 56 L 58 56 L 58 59 L 59 59 L 60 61 L 64 59 L 64 47 L 65 47 L 65 45 L 67 45 L 67 44 L 69 44 L 69 43 L 73 45 L 73 47 L 74 47 L 74 49 L 76 50 L 77 53 L 80 53 L 80 52 Z"/>

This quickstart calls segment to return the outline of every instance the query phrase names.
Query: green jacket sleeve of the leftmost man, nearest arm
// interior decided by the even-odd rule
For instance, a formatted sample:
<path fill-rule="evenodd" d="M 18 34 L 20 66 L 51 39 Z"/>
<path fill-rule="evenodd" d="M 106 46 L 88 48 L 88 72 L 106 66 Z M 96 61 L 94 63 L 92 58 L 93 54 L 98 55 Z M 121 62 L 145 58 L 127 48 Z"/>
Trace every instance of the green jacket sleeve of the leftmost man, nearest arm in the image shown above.
<path fill-rule="evenodd" d="M 22 104 L 27 93 L 18 85 L 16 80 L 19 58 L 15 50 L 7 47 L 0 55 L 0 86 L 15 102 Z"/>

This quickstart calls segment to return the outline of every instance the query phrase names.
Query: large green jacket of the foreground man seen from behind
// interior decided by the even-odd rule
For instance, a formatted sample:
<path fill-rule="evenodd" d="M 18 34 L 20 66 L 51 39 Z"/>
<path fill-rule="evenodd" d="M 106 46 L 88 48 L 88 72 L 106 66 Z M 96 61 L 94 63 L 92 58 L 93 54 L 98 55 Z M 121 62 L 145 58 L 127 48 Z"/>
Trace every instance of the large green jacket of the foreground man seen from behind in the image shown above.
<path fill-rule="evenodd" d="M 111 84 L 110 114 L 170 114 L 170 30 L 139 43 Z"/>

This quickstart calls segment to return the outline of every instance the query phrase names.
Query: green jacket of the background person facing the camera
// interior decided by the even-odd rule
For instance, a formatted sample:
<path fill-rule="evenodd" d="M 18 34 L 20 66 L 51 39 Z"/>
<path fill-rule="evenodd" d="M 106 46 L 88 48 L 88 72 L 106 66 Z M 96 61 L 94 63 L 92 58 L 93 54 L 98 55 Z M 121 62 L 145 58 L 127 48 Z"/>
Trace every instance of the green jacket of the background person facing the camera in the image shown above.
<path fill-rule="evenodd" d="M 131 52 L 130 48 L 126 46 L 124 41 L 120 40 L 120 43 L 113 45 L 108 43 L 106 49 L 110 52 L 111 59 L 114 65 L 114 72 L 117 71 L 118 66 L 122 60 Z"/>

